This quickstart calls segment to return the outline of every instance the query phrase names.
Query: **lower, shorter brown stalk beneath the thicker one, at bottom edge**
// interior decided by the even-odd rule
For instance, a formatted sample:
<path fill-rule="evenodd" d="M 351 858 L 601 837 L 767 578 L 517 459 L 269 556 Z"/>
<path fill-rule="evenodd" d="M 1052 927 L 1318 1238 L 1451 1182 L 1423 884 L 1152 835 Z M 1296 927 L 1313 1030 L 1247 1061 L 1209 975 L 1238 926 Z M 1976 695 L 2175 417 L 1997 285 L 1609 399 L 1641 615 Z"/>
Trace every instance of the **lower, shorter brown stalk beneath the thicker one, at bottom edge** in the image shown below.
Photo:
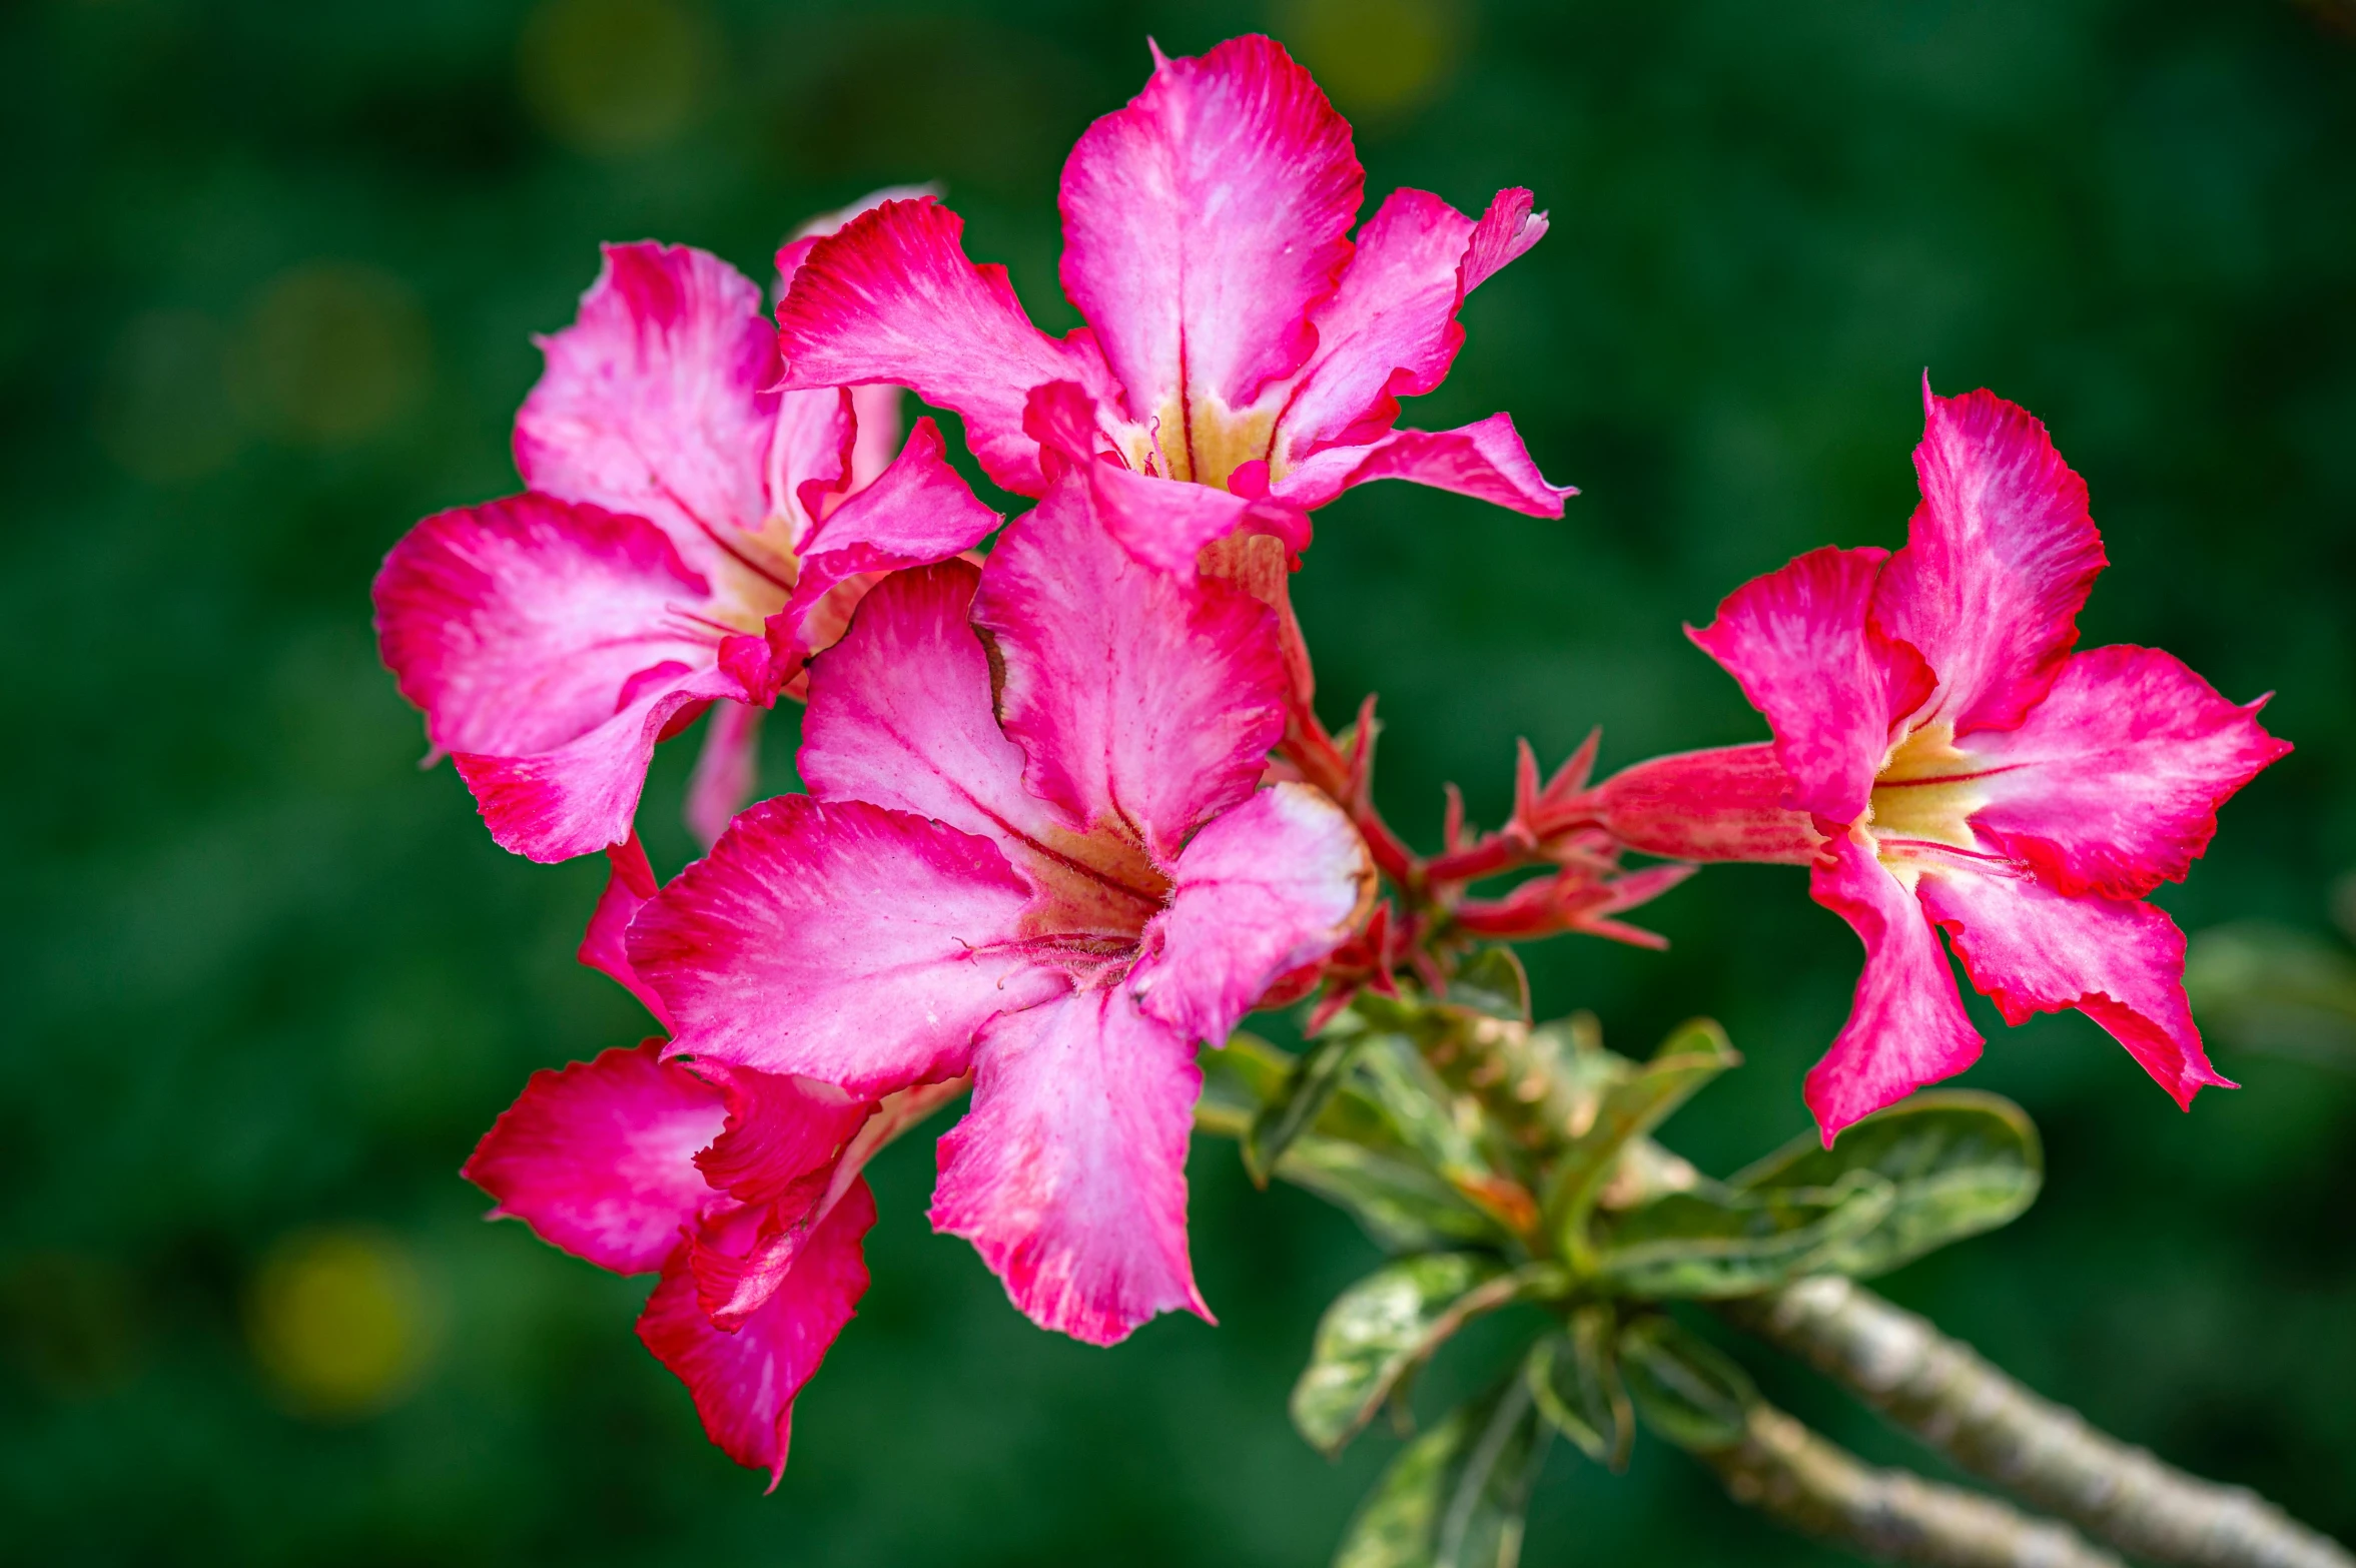
<path fill-rule="evenodd" d="M 1739 1443 L 1696 1457 L 1736 1502 L 1882 1563 L 2125 1568 L 2069 1526 L 1904 1469 L 1875 1469 L 1767 1403 L 1751 1406 Z"/>

